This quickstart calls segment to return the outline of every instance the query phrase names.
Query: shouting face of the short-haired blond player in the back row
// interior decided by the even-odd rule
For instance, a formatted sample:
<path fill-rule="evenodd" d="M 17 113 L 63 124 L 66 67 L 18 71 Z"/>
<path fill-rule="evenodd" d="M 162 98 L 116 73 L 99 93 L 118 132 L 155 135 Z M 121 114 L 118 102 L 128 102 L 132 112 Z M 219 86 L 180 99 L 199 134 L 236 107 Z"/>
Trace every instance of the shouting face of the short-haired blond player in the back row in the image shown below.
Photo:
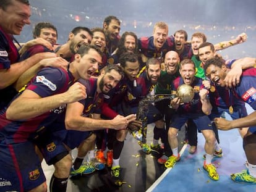
<path fill-rule="evenodd" d="M 164 42 L 167 40 L 168 28 L 155 27 L 153 31 L 153 43 L 156 49 L 161 49 Z"/>

